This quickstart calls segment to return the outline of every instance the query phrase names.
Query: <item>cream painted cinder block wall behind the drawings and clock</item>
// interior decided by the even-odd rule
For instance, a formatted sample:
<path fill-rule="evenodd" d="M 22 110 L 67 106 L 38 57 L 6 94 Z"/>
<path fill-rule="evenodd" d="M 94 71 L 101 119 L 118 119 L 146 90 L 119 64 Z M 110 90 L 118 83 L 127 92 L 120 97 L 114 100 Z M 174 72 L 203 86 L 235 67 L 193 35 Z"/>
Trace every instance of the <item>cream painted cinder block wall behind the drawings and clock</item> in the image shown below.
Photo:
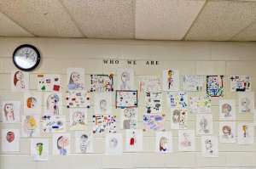
<path fill-rule="evenodd" d="M 10 92 L 10 72 L 15 69 L 12 54 L 20 44 L 30 43 L 42 54 L 42 63 L 37 70 L 30 73 L 30 89 L 37 89 L 37 73 L 61 74 L 65 98 L 67 67 L 84 67 L 85 84 L 90 87 L 90 74 L 116 75 L 119 67 L 135 69 L 135 82 L 138 88 L 138 76 L 159 75 L 164 69 L 180 70 L 184 74 L 224 75 L 224 98 L 236 99 L 236 122 L 253 121 L 252 114 L 239 114 L 237 93 L 230 93 L 230 75 L 251 75 L 253 92 L 256 92 L 256 43 L 255 42 L 150 42 L 91 39 L 54 39 L 54 38 L 0 38 L 0 108 L 2 100 L 21 101 L 23 115 L 23 93 Z M 102 59 L 119 59 L 119 65 L 104 65 Z M 127 65 L 125 60 L 136 59 L 137 65 Z M 159 65 L 145 65 L 145 60 L 159 61 Z M 115 87 L 116 76 L 115 76 Z M 204 96 L 206 92 L 189 93 L 189 96 Z M 114 98 L 114 93 L 113 93 Z M 170 112 L 166 108 L 166 97 L 163 97 L 166 114 L 166 131 L 171 131 Z M 93 94 L 89 110 L 89 128 L 92 129 Z M 63 102 L 63 114 L 69 113 Z M 139 127 L 142 127 L 144 98 L 139 93 Z M 119 110 L 113 106 L 113 114 L 118 116 L 118 132 L 123 133 L 125 150 L 125 131 L 119 130 Z M 218 135 L 218 99 L 212 99 L 213 134 Z M 2 115 L 2 112 L 1 112 Z M 2 119 L 2 118 L 1 118 Z M 3 124 L 1 128 L 20 128 L 19 124 Z M 189 115 L 189 129 L 195 129 L 195 115 Z M 70 132 L 67 129 L 67 132 Z M 71 155 L 67 157 L 51 155 L 52 136 L 41 133 L 42 138 L 49 138 L 49 161 L 35 162 L 30 158 L 30 139 L 20 139 L 20 152 L 0 155 L 0 168 L 4 169 L 50 169 L 50 168 L 255 168 L 256 144 L 237 145 L 219 144 L 218 158 L 201 158 L 201 138 L 196 137 L 195 152 L 177 151 L 177 130 L 173 130 L 174 152 L 168 155 L 154 153 L 154 132 L 144 132 L 143 152 L 126 153 L 119 156 L 104 155 L 104 134 L 94 135 L 94 154 L 75 154 L 74 131 L 71 132 Z M 255 136 L 255 131 L 254 131 Z M 254 138 L 255 142 L 256 139 Z"/>

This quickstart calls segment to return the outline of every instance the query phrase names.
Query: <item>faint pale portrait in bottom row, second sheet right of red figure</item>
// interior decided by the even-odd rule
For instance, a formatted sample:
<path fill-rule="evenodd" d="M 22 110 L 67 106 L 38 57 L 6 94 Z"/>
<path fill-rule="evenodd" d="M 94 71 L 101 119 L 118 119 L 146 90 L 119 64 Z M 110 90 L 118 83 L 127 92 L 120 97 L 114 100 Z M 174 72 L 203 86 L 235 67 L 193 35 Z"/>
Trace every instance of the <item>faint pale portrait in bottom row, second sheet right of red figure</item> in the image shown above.
<path fill-rule="evenodd" d="M 179 130 L 178 132 L 178 150 L 195 151 L 195 131 Z"/>

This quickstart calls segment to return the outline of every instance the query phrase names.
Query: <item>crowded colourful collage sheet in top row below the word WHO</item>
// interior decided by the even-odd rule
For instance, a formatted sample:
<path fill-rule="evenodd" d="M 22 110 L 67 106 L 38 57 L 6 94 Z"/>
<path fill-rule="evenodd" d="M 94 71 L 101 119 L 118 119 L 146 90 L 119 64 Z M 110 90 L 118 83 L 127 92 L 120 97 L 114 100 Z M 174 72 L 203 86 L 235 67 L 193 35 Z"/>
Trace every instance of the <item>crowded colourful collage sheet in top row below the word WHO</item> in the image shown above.
<path fill-rule="evenodd" d="M 113 74 L 90 75 L 90 92 L 113 91 Z"/>

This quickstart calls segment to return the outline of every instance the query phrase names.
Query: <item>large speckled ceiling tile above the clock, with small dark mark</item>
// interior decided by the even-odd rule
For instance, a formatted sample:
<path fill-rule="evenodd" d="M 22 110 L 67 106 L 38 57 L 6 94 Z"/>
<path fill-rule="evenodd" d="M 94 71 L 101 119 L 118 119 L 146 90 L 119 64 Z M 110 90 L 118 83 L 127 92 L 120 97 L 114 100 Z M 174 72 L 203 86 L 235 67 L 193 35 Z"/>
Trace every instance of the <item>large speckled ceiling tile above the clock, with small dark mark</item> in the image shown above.
<path fill-rule="evenodd" d="M 1 0 L 0 10 L 38 37 L 83 37 L 57 0 Z"/>

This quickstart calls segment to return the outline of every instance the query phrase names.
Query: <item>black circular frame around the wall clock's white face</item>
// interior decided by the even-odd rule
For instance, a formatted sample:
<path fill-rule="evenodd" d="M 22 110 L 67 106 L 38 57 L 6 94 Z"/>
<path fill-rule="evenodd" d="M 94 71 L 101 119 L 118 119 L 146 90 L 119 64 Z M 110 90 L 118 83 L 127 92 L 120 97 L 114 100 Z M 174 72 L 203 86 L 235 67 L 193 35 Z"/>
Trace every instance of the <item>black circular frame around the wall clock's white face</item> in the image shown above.
<path fill-rule="evenodd" d="M 36 65 L 33 65 L 31 68 L 28 68 L 28 69 L 25 69 L 25 68 L 22 68 L 20 67 L 20 65 L 18 65 L 15 61 L 15 54 L 16 52 L 20 49 L 20 48 L 32 48 L 37 54 L 38 54 L 38 59 L 37 59 L 37 63 Z M 40 63 L 40 60 L 41 60 L 41 56 L 40 56 L 40 53 L 38 51 L 38 48 L 30 45 L 30 44 L 23 44 L 23 45 L 20 45 L 18 48 L 15 49 L 15 52 L 13 54 L 13 62 L 15 64 L 15 66 L 19 69 L 19 70 L 24 70 L 24 71 L 30 71 L 30 70 L 34 70 L 36 67 L 38 67 L 39 63 Z"/>

